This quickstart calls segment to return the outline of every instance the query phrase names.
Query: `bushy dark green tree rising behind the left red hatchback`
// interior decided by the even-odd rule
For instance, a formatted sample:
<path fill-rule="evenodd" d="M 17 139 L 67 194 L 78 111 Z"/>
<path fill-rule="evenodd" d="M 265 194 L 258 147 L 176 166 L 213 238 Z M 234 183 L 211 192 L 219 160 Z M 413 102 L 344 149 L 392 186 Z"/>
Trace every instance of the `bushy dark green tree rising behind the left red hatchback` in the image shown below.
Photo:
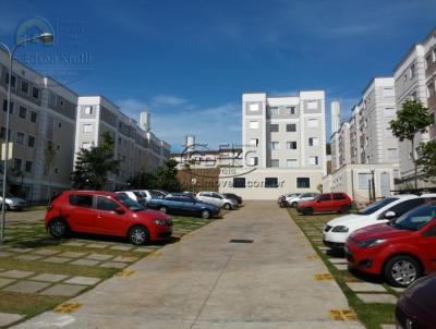
<path fill-rule="evenodd" d="M 72 174 L 75 188 L 101 190 L 108 182 L 108 174 L 119 172 L 120 161 L 113 158 L 114 139 L 109 132 L 101 137 L 100 146 L 80 150 Z"/>

